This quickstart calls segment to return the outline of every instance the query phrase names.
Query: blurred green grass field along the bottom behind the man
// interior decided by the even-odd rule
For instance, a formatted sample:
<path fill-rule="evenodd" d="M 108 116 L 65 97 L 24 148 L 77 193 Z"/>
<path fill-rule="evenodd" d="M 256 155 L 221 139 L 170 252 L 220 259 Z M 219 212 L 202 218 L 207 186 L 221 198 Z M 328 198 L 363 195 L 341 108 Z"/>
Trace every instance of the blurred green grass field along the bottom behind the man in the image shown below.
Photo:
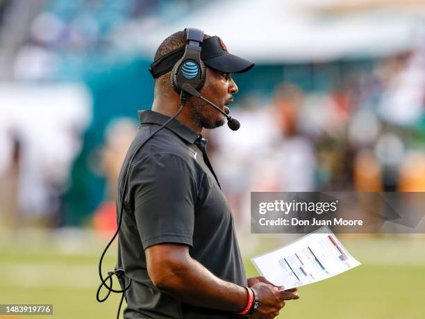
<path fill-rule="evenodd" d="M 111 295 L 103 304 L 95 299 L 97 261 L 103 244 L 90 231 L 1 235 L 1 304 L 53 304 L 53 318 L 61 319 L 115 318 L 118 295 Z M 340 239 L 363 265 L 301 287 L 301 299 L 288 302 L 279 318 L 425 318 L 424 238 Z M 285 238 L 242 236 L 244 252 L 249 251 L 245 246 L 250 241 L 256 243 L 256 249 L 245 254 L 245 265 L 248 275 L 254 276 L 258 274 L 249 257 L 283 245 Z M 115 247 L 106 258 L 104 272 L 113 268 L 114 253 Z"/>

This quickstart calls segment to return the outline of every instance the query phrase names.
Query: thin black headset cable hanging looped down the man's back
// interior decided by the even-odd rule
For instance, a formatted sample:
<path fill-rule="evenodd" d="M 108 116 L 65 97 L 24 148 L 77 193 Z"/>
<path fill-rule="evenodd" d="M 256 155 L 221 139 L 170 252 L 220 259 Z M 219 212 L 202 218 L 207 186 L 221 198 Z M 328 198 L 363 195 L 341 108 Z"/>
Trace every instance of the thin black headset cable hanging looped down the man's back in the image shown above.
<path fill-rule="evenodd" d="M 113 238 L 111 238 L 109 240 L 108 245 L 106 245 L 105 250 L 103 250 L 102 254 L 101 254 L 101 258 L 99 259 L 99 277 L 101 279 L 101 284 L 99 285 L 99 288 L 97 288 L 97 293 L 96 293 L 96 299 L 98 302 L 104 302 L 105 300 L 108 299 L 110 293 L 122 293 L 121 296 L 121 300 L 119 302 L 119 306 L 118 306 L 118 311 L 117 311 L 117 319 L 119 319 L 119 312 L 121 310 L 121 306 L 122 306 L 122 302 L 124 300 L 124 292 L 130 288 L 131 283 L 132 283 L 132 279 L 129 280 L 128 282 L 128 286 L 125 286 L 124 289 L 121 290 L 116 290 L 113 289 L 113 279 L 112 277 L 115 275 L 117 276 L 117 279 L 120 279 L 120 277 L 122 277 L 124 274 L 124 270 L 114 270 L 114 271 L 110 271 L 108 272 L 108 276 L 106 278 L 103 278 L 102 276 L 102 262 L 103 262 L 103 257 L 105 256 L 106 252 L 108 251 L 110 245 L 112 245 L 113 241 L 115 240 L 115 238 L 117 237 L 118 233 L 119 233 L 119 229 L 121 228 L 121 223 L 122 223 L 122 213 L 123 213 L 123 209 L 124 209 L 124 201 L 125 201 L 125 195 L 126 195 L 126 191 L 127 191 L 127 186 L 128 186 L 128 178 L 129 178 L 129 173 L 130 173 L 130 169 L 131 169 L 131 164 L 133 163 L 133 159 L 135 158 L 135 155 L 139 152 L 139 150 L 151 139 L 153 138 L 153 136 L 158 133 L 161 129 L 163 129 L 169 122 L 171 122 L 172 120 L 174 120 L 174 118 L 176 118 L 181 111 L 183 110 L 183 106 L 185 104 L 185 101 L 188 98 L 185 97 L 185 94 L 181 93 L 181 106 L 178 109 L 178 111 L 176 112 L 176 114 L 174 114 L 172 117 L 169 118 L 169 120 L 167 120 L 167 122 L 165 122 L 163 125 L 161 125 L 156 131 L 154 131 L 153 133 L 151 133 L 151 135 L 149 136 L 149 138 L 147 138 L 146 140 L 144 140 L 138 147 L 135 148 L 135 151 L 133 152 L 133 155 L 131 156 L 130 160 L 128 161 L 128 166 L 127 166 L 127 170 L 126 170 L 126 175 L 125 175 L 125 179 L 124 179 L 124 190 L 122 191 L 122 199 L 121 199 L 121 207 L 119 208 L 119 221 L 118 221 L 118 226 L 117 226 L 117 231 L 115 231 L 115 234 L 113 236 Z M 106 281 L 109 280 L 109 286 L 106 283 Z M 125 283 L 125 281 L 124 281 Z M 104 286 L 107 290 L 108 293 L 106 294 L 105 297 L 103 297 L 103 299 L 101 299 L 99 297 L 99 293 L 101 291 L 102 286 Z"/>

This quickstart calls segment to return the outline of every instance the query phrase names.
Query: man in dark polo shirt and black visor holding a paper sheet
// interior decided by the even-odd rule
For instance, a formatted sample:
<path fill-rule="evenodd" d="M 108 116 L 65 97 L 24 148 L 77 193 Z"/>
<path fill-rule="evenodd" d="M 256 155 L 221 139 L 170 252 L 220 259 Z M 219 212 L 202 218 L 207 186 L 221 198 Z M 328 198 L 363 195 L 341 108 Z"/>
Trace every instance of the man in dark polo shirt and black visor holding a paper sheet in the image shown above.
<path fill-rule="evenodd" d="M 185 31 L 174 33 L 160 44 L 155 60 L 185 44 Z M 203 128 L 223 125 L 224 115 L 201 99 L 188 99 L 176 119 L 135 155 L 122 199 L 129 154 L 181 106 L 170 84 L 172 65 L 181 56 L 168 61 L 163 74 L 152 72 L 152 110 L 140 113 L 141 126 L 119 179 L 117 206 L 124 200 L 124 211 L 117 268 L 124 270 L 123 288 L 131 279 L 124 318 L 237 318 L 235 313 L 255 309 L 252 296 L 260 306 L 251 318 L 274 318 L 285 300 L 299 295 L 296 289 L 283 291 L 263 277 L 245 275 L 231 208 L 201 136 Z M 245 72 L 253 63 L 228 54 L 221 39 L 208 35 L 201 58 L 206 81 L 200 93 L 228 113 L 226 105 L 238 92 L 231 72 Z"/>

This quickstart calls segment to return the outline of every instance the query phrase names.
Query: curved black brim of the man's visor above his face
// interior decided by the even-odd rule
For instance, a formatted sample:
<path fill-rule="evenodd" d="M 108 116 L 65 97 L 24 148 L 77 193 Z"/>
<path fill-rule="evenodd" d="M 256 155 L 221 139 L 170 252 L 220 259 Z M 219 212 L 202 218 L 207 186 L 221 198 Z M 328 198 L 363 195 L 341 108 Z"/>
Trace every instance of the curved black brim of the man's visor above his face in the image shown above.
<path fill-rule="evenodd" d="M 254 66 L 253 62 L 229 53 L 203 59 L 203 63 L 208 67 L 213 67 L 213 69 L 218 69 L 225 73 L 243 73 Z"/>

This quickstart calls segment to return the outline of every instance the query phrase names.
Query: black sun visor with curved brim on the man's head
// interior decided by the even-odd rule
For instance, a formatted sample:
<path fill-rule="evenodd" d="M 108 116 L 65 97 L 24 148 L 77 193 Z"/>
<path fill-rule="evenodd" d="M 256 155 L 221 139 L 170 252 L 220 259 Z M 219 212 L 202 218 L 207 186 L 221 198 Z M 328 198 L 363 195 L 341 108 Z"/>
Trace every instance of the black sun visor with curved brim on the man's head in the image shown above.
<path fill-rule="evenodd" d="M 154 61 L 149 69 L 153 79 L 171 71 L 184 52 L 185 47 L 181 47 Z M 202 41 L 201 60 L 206 66 L 224 73 L 243 73 L 254 66 L 253 62 L 228 53 L 226 44 L 217 35 Z"/>

